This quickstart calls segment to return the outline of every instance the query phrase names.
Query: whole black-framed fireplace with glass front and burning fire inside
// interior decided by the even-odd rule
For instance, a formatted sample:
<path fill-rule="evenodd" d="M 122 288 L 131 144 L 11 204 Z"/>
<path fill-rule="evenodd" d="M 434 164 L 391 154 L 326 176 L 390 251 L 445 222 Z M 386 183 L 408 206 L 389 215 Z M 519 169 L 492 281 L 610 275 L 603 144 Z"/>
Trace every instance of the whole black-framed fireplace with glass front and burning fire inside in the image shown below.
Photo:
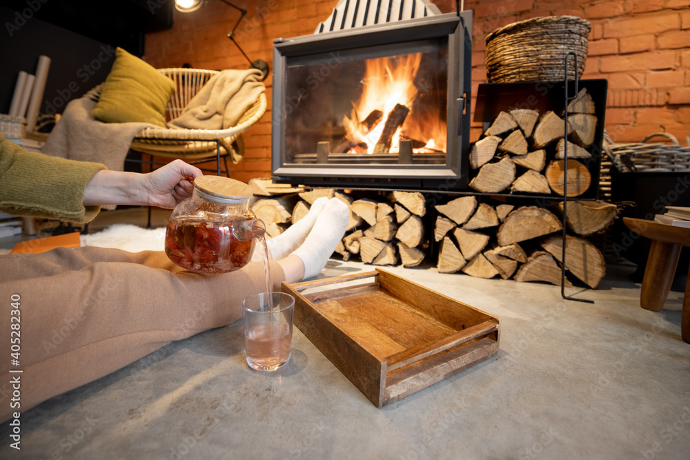
<path fill-rule="evenodd" d="M 276 40 L 274 180 L 464 188 L 471 28 L 462 12 Z"/>

